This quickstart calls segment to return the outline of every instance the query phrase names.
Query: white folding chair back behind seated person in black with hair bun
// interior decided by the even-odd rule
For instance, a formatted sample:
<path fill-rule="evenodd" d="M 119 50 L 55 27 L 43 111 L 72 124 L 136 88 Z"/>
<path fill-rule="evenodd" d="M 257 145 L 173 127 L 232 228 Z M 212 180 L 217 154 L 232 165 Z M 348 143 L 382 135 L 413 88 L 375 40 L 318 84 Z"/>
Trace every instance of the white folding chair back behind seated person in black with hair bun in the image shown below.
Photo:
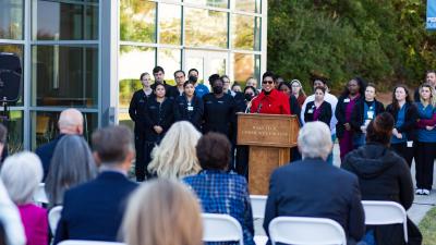
<path fill-rule="evenodd" d="M 404 241 L 408 242 L 408 216 L 404 208 L 395 201 L 362 200 L 366 225 L 402 223 Z"/>

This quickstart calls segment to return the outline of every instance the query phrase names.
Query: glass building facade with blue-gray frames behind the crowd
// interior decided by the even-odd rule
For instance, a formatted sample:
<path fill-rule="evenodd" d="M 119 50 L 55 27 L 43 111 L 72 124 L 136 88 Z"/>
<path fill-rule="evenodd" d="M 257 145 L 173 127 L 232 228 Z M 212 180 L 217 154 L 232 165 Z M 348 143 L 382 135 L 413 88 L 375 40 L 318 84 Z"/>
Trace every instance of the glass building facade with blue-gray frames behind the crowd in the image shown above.
<path fill-rule="evenodd" d="M 23 65 L 11 105 L 10 150 L 35 149 L 58 134 L 64 108 L 84 113 L 85 137 L 128 124 L 140 74 L 155 65 L 195 68 L 232 81 L 266 69 L 267 0 L 0 0 L 0 52 Z M 1 68 L 0 68 L 1 69 Z M 207 82 L 205 82 L 207 83 Z"/>

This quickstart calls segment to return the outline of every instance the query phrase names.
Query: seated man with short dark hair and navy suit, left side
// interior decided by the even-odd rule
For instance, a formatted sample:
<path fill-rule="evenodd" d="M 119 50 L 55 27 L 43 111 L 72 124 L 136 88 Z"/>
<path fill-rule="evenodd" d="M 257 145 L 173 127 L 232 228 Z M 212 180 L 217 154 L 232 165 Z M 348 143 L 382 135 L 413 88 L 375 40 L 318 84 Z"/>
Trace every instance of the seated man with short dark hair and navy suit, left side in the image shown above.
<path fill-rule="evenodd" d="M 135 155 L 128 127 L 100 128 L 92 142 L 100 174 L 65 192 L 55 244 L 64 240 L 116 241 L 126 198 L 137 186 L 128 179 Z"/>

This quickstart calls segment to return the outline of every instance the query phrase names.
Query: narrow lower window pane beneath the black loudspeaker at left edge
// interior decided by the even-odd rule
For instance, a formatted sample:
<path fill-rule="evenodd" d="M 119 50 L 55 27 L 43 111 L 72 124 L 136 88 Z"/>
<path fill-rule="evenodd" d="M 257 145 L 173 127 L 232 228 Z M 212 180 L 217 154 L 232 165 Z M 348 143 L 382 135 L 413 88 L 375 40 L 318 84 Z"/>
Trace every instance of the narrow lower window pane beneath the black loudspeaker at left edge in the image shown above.
<path fill-rule="evenodd" d="M 9 155 L 23 150 L 23 111 L 10 111 L 9 122 L 2 122 L 8 127 Z"/>

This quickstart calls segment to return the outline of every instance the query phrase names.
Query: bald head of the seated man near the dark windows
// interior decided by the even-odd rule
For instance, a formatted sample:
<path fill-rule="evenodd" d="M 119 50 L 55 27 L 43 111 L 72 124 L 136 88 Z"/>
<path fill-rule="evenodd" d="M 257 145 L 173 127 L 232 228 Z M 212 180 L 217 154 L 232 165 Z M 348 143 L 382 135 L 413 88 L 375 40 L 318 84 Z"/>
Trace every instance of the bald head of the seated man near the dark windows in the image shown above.
<path fill-rule="evenodd" d="M 83 115 L 76 109 L 63 110 L 58 122 L 61 134 L 83 134 Z"/>

